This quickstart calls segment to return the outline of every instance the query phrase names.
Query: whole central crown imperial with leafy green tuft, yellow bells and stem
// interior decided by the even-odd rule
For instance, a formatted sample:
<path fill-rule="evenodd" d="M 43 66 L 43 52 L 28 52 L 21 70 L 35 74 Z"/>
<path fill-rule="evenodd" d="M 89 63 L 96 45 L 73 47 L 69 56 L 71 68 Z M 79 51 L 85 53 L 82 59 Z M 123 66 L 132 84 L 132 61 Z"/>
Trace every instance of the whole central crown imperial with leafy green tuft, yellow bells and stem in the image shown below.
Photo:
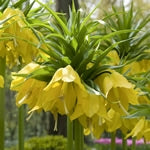
<path fill-rule="evenodd" d="M 11 89 L 17 91 L 17 106 L 27 104 L 29 113 L 50 111 L 55 118 L 55 130 L 58 114 L 67 115 L 68 150 L 83 149 L 83 129 L 85 134 L 91 133 L 97 138 L 103 131 L 113 133 L 117 129 L 124 135 L 133 129 L 126 137 L 136 136 L 133 126 L 140 124 L 138 120 L 134 119 L 134 125 L 127 125 L 130 120 L 122 116 L 129 115 L 129 106 L 140 103 L 140 88 L 130 80 L 126 66 L 149 54 L 145 49 L 139 50 L 140 39 L 133 38 L 141 27 L 130 26 L 131 16 L 125 24 L 129 27 L 112 26 L 113 32 L 101 35 L 98 31 L 102 21 L 91 20 L 93 12 L 83 18 L 73 6 L 66 20 L 37 2 L 45 8 L 47 16 L 44 17 L 49 19 L 30 24 L 42 53 L 14 74 Z M 124 21 L 132 13 L 132 7 L 129 12 L 124 11 Z M 130 43 L 134 51 L 131 46 L 122 48 Z"/>

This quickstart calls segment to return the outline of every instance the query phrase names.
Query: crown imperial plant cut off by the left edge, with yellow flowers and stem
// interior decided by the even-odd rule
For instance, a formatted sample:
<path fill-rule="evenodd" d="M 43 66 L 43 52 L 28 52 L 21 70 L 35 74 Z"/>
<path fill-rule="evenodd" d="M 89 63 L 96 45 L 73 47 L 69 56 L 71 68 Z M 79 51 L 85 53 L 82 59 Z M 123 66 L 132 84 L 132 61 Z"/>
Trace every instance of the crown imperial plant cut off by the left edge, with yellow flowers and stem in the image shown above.
<path fill-rule="evenodd" d="M 5 70 L 6 67 L 29 63 L 38 51 L 32 44 L 38 39 L 28 28 L 25 16 L 19 9 L 7 8 L 9 1 L 2 2 L 0 14 L 0 149 L 4 149 Z M 20 5 L 21 5 L 20 1 Z M 17 4 L 16 4 L 17 6 Z M 22 144 L 23 145 L 23 144 Z M 23 149 L 23 148 L 21 148 Z"/>

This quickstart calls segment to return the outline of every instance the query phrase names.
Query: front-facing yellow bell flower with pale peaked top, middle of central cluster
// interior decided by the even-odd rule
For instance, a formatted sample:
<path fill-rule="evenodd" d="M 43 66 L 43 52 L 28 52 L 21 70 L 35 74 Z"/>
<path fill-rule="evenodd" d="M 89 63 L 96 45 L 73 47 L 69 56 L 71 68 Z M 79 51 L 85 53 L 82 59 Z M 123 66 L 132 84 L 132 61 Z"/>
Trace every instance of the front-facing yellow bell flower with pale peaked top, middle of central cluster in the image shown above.
<path fill-rule="evenodd" d="M 68 65 L 58 69 L 52 80 L 43 89 L 42 104 L 39 107 L 45 111 L 60 114 L 72 113 L 76 104 L 75 86 L 84 88 L 80 77 L 73 68 Z"/>

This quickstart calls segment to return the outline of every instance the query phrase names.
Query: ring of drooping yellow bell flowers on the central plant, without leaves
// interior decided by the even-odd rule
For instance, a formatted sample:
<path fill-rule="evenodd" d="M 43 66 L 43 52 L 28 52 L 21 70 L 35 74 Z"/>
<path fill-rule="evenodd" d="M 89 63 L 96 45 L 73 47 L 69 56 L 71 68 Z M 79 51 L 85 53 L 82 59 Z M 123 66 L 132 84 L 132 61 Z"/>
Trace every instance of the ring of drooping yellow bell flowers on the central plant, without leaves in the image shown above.
<path fill-rule="evenodd" d="M 30 74 L 39 68 L 40 65 L 30 63 L 19 74 Z M 18 92 L 18 106 L 28 104 L 30 112 L 50 111 L 55 119 L 58 113 L 68 115 L 71 120 L 79 119 L 86 130 L 99 137 L 104 129 L 111 132 L 120 127 L 120 116 L 126 115 L 129 104 L 138 104 L 138 101 L 134 86 L 114 70 L 97 77 L 95 83 L 105 98 L 89 92 L 77 72 L 68 65 L 58 69 L 49 83 L 16 77 L 11 88 Z M 104 124 L 106 128 L 102 127 Z"/>

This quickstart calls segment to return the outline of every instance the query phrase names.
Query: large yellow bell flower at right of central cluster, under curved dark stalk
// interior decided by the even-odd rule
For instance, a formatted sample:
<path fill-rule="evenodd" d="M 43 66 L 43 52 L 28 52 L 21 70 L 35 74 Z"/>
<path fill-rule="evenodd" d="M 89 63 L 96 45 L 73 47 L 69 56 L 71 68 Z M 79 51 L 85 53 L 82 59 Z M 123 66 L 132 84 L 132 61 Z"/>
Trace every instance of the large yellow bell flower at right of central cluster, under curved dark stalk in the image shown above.
<path fill-rule="evenodd" d="M 134 85 L 118 72 L 109 70 L 100 75 L 95 82 L 105 94 L 110 106 L 121 114 L 127 114 L 129 103 L 138 104 L 138 93 Z"/>

